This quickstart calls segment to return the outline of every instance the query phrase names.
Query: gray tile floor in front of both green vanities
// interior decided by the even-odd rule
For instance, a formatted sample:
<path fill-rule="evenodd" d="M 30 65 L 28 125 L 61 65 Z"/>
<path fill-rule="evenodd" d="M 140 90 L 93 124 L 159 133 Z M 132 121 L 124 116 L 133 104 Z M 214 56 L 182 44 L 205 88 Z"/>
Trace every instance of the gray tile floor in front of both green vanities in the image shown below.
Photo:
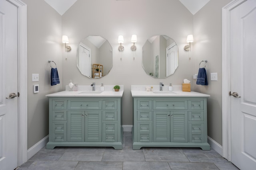
<path fill-rule="evenodd" d="M 55 147 L 41 149 L 18 170 L 238 170 L 215 150 L 148 148 L 132 150 L 132 133 L 125 132 L 123 149 Z"/>

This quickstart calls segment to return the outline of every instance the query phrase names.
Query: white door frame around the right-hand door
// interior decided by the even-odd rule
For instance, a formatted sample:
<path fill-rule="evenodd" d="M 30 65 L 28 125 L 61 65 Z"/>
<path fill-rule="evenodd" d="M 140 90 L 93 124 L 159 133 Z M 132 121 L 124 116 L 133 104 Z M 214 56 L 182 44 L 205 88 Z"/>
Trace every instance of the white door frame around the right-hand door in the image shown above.
<path fill-rule="evenodd" d="M 222 8 L 222 156 L 231 161 L 231 10 L 246 0 L 232 0 Z"/>

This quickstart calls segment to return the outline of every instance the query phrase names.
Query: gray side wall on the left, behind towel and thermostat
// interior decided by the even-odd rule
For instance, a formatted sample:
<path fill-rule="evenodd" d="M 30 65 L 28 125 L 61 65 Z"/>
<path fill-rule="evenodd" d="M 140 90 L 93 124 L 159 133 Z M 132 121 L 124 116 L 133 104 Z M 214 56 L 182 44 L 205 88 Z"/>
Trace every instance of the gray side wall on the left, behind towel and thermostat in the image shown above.
<path fill-rule="evenodd" d="M 61 16 L 44 0 L 23 0 L 27 4 L 28 26 L 28 149 L 48 135 L 48 98 L 46 94 L 62 90 Z M 60 84 L 50 85 L 48 60 L 58 66 Z M 54 64 L 52 64 L 54 66 Z M 39 82 L 32 82 L 39 73 Z M 39 84 L 39 93 L 33 93 Z"/>

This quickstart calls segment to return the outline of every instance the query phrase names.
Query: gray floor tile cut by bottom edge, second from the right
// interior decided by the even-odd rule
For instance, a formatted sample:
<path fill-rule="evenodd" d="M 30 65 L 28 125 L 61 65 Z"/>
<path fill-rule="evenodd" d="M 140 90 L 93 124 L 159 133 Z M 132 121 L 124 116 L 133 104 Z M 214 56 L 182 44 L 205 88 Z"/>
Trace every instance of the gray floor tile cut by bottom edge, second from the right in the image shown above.
<path fill-rule="evenodd" d="M 168 162 L 171 170 L 218 170 L 214 163 Z"/>

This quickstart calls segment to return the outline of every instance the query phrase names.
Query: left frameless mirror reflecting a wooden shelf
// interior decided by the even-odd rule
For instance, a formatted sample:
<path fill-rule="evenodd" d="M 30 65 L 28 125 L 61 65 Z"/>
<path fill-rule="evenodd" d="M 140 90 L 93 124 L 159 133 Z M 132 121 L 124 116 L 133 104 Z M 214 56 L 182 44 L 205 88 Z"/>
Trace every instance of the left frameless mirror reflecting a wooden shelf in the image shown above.
<path fill-rule="evenodd" d="M 106 76 L 113 66 L 112 47 L 101 36 L 88 36 L 78 45 L 77 67 L 88 78 Z"/>

